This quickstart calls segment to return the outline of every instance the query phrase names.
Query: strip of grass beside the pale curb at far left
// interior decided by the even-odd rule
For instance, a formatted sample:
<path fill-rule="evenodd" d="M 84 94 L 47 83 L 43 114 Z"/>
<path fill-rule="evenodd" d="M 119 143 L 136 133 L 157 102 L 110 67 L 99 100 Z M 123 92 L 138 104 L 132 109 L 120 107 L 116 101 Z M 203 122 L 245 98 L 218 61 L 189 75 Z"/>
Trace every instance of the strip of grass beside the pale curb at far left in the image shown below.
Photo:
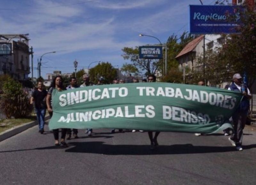
<path fill-rule="evenodd" d="M 26 118 L 18 118 L 18 119 L 13 118 L 13 119 L 0 120 L 0 133 L 4 132 L 5 130 L 8 130 L 12 127 L 19 126 L 19 125 L 22 125 L 24 123 L 28 123 L 28 122 L 35 121 L 35 120 L 36 120 L 35 115 L 28 116 Z"/>

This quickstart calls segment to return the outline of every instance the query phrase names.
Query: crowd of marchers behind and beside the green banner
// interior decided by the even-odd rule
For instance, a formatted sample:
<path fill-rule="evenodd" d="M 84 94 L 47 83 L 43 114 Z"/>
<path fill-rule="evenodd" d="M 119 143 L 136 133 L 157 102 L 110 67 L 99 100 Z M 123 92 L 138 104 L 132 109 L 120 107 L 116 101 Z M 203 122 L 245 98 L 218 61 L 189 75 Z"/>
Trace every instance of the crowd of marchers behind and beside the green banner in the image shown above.
<path fill-rule="evenodd" d="M 39 132 L 41 134 L 44 133 L 44 117 L 46 113 L 46 109 L 48 110 L 50 117 L 52 117 L 52 92 L 54 89 L 58 91 L 63 91 L 66 89 L 75 89 L 78 86 L 76 85 L 76 78 L 70 77 L 69 80 L 70 84 L 65 88 L 62 85 L 62 77 L 61 76 L 55 76 L 55 78 L 52 81 L 52 85 L 48 91 L 46 91 L 43 87 L 43 82 L 38 81 L 37 87 L 34 89 L 32 93 L 32 97 L 30 99 L 30 103 L 35 103 L 35 110 L 36 110 L 36 116 L 39 126 Z M 134 78 L 133 83 L 139 82 L 138 79 Z M 148 75 L 148 79 L 143 79 L 142 82 L 156 82 L 156 76 L 155 75 Z M 117 80 L 115 79 L 113 81 L 113 84 L 117 83 L 124 83 L 124 80 Z M 98 80 L 98 83 L 96 85 L 102 85 L 102 78 Z M 80 87 L 86 87 L 91 86 L 90 77 L 88 74 L 83 75 L 83 84 Z M 204 86 L 204 81 L 199 81 L 198 85 Z M 248 111 L 250 108 L 250 102 L 249 99 L 252 97 L 250 90 L 247 88 L 246 84 L 243 83 L 243 78 L 239 73 L 234 74 L 233 81 L 231 85 L 227 85 L 225 89 L 232 90 L 232 91 L 238 91 L 243 93 L 242 101 L 240 102 L 239 107 L 235 111 L 235 113 L 232 116 L 232 124 L 233 124 L 233 130 L 232 135 L 228 138 L 228 140 L 231 142 L 232 146 L 236 147 L 236 150 L 243 150 L 242 148 L 242 140 L 243 140 L 243 129 L 246 123 L 246 118 L 248 115 Z M 73 137 L 78 137 L 78 129 L 71 129 L 71 128 L 62 128 L 61 129 L 61 137 L 59 141 L 59 129 L 53 129 L 52 133 L 54 135 L 55 139 L 55 145 L 62 145 L 64 147 L 67 147 L 67 143 L 65 142 L 66 139 L 71 139 L 71 132 L 73 131 Z M 224 130 L 225 135 L 229 135 L 230 130 Z M 115 133 L 115 128 L 113 128 L 110 131 L 112 134 Z M 124 132 L 123 129 L 119 129 L 119 132 Z M 132 130 L 132 132 L 136 132 L 136 130 Z M 140 130 L 140 132 L 143 132 Z M 86 134 L 89 136 L 92 135 L 92 128 L 86 129 Z M 148 131 L 148 136 L 150 139 L 150 149 L 154 150 L 156 146 L 158 146 L 157 142 L 157 136 L 160 134 L 160 132 L 156 131 L 155 135 L 152 131 Z M 201 135 L 201 133 L 195 133 L 196 136 Z"/>

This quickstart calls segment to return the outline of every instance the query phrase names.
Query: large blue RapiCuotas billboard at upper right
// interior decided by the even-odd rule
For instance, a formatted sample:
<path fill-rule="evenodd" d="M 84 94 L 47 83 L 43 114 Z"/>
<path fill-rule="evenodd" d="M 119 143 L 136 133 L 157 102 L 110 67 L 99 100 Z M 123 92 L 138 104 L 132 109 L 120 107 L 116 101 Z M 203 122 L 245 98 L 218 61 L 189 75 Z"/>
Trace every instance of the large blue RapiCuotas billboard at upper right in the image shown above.
<path fill-rule="evenodd" d="M 232 34 L 241 23 L 242 6 L 189 5 L 190 34 Z"/>

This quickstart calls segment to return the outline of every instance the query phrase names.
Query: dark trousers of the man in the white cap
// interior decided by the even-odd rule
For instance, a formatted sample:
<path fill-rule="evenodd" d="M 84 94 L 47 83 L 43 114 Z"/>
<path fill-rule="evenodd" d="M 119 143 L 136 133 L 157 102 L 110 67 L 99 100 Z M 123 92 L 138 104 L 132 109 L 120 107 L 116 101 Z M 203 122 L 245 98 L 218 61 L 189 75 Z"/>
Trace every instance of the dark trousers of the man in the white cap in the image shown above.
<path fill-rule="evenodd" d="M 235 112 L 232 116 L 234 130 L 230 137 L 233 141 L 235 141 L 236 146 L 242 145 L 243 140 L 243 129 L 246 123 L 247 111 L 246 112 Z"/>

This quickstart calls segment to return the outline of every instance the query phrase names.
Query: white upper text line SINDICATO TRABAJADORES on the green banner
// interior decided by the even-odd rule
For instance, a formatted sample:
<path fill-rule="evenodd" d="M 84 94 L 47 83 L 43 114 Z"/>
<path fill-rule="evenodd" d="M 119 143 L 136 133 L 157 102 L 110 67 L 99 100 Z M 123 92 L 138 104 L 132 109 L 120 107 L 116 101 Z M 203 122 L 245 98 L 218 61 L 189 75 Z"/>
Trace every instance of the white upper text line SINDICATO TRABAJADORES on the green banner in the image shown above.
<path fill-rule="evenodd" d="M 233 109 L 236 104 L 236 98 L 220 93 L 197 91 L 186 89 L 186 94 L 183 94 L 180 88 L 173 89 L 171 87 L 136 87 L 139 91 L 139 96 L 165 96 L 172 98 L 181 98 L 190 101 L 197 101 L 200 103 L 209 103 L 213 106 L 218 106 L 226 109 Z M 67 106 L 72 104 L 79 104 L 86 101 L 115 98 L 116 96 L 125 97 L 128 95 L 126 87 L 111 87 L 101 89 L 77 90 L 76 92 L 63 93 L 59 97 L 59 105 Z"/>

